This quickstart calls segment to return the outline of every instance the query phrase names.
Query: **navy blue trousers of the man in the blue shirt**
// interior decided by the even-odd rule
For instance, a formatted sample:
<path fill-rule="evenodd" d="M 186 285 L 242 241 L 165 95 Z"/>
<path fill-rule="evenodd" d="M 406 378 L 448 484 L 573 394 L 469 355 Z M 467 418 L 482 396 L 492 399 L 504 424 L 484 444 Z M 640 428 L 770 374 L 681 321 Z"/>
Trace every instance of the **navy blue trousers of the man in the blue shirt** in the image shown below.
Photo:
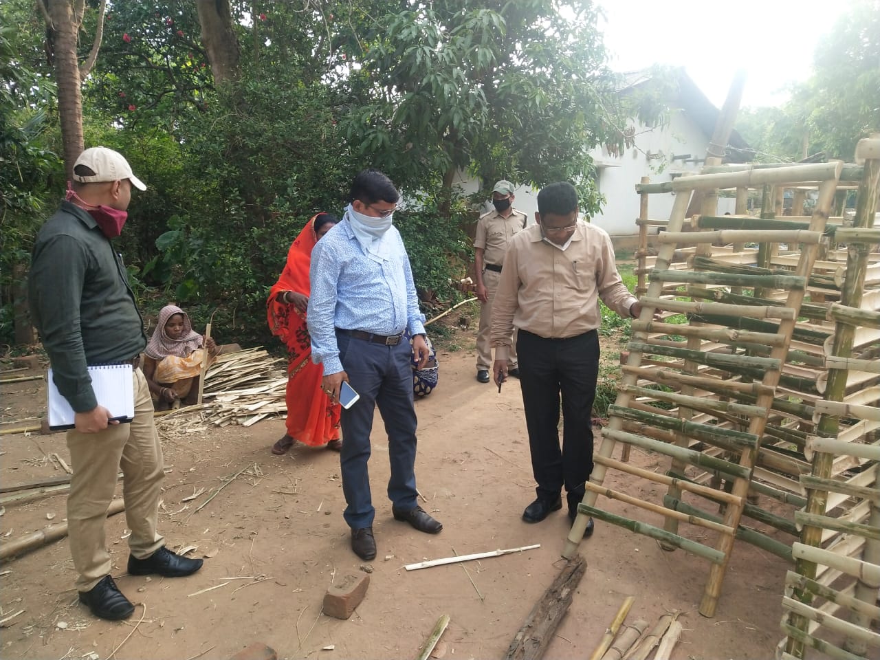
<path fill-rule="evenodd" d="M 415 490 L 415 408 L 413 407 L 412 349 L 408 341 L 385 346 L 336 334 L 342 368 L 348 384 L 361 395 L 355 405 L 343 409 L 341 472 L 342 492 L 348 505 L 345 522 L 352 529 L 373 524 L 376 510 L 370 495 L 370 432 L 373 413 L 378 406 L 385 433 L 388 434 L 388 458 L 391 479 L 388 499 L 396 509 L 414 509 Z"/>

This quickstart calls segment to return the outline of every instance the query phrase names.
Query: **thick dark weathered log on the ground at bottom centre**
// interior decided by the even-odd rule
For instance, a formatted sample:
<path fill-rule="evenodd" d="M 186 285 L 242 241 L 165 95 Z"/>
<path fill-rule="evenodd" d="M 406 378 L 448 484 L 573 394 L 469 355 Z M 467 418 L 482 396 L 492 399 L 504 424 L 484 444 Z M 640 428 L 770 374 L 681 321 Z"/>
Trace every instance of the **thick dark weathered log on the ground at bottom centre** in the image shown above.
<path fill-rule="evenodd" d="M 514 635 L 504 656 L 505 660 L 538 660 L 544 655 L 562 617 L 568 612 L 571 598 L 585 569 L 586 562 L 579 554 L 562 567 L 553 584 L 532 607 L 532 612 L 529 612 L 523 626 Z"/>

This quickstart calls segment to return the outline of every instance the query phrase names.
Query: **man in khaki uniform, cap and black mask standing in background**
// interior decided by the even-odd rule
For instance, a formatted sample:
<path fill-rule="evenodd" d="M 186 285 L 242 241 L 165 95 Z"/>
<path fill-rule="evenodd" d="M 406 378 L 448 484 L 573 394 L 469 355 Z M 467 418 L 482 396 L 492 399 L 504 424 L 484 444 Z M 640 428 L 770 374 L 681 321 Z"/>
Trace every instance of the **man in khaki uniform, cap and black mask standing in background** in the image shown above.
<path fill-rule="evenodd" d="M 504 253 L 513 235 L 524 229 L 526 216 L 517 211 L 513 203 L 513 184 L 500 180 L 492 188 L 492 204 L 495 210 L 480 216 L 477 233 L 473 238 L 474 276 L 477 282 L 477 297 L 480 299 L 480 330 L 477 333 L 477 380 L 489 382 L 489 366 L 492 364 L 492 346 L 489 334 L 492 328 L 492 301 L 501 277 Z M 514 333 L 516 330 L 514 330 Z M 518 376 L 517 337 L 510 337 L 510 376 Z"/>

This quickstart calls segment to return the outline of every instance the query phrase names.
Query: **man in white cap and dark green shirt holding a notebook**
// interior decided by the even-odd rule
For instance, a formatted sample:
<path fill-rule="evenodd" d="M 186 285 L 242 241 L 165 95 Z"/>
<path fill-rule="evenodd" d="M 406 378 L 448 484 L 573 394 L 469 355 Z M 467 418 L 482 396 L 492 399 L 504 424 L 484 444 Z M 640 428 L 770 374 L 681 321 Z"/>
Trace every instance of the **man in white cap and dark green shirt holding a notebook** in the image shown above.
<path fill-rule="evenodd" d="M 125 265 L 111 238 L 128 216 L 131 187 L 146 186 L 121 154 L 84 150 L 61 208 L 40 228 L 33 246 L 28 293 L 34 325 L 52 366 L 58 392 L 73 408 L 67 434 L 73 475 L 67 502 L 70 554 L 79 600 L 101 619 L 134 612 L 110 576 L 106 510 L 122 470 L 128 537 L 128 575 L 188 576 L 202 560 L 180 557 L 156 532 L 163 474 L 150 390 L 140 369 L 146 345 L 143 319 Z M 135 416 L 114 422 L 100 405 L 86 370 L 95 364 L 131 364 Z"/>

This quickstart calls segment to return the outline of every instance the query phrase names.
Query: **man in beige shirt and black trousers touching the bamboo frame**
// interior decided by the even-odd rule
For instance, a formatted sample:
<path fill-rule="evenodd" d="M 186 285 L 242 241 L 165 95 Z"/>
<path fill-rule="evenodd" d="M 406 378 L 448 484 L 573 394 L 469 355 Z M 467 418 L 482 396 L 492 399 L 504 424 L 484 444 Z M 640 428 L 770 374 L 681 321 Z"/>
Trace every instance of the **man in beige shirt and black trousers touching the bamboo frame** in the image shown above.
<path fill-rule="evenodd" d="M 574 520 L 593 469 L 590 418 L 598 378 L 602 325 L 598 299 L 635 318 L 642 306 L 620 279 L 611 238 L 577 219 L 577 191 L 554 183 L 538 194 L 537 224 L 510 241 L 492 308 L 495 383 L 507 378 L 518 330 L 519 378 L 538 498 L 524 510 L 538 523 L 562 508 L 561 488 Z M 562 447 L 559 444 L 560 398 Z M 593 530 L 593 521 L 585 536 Z"/>

